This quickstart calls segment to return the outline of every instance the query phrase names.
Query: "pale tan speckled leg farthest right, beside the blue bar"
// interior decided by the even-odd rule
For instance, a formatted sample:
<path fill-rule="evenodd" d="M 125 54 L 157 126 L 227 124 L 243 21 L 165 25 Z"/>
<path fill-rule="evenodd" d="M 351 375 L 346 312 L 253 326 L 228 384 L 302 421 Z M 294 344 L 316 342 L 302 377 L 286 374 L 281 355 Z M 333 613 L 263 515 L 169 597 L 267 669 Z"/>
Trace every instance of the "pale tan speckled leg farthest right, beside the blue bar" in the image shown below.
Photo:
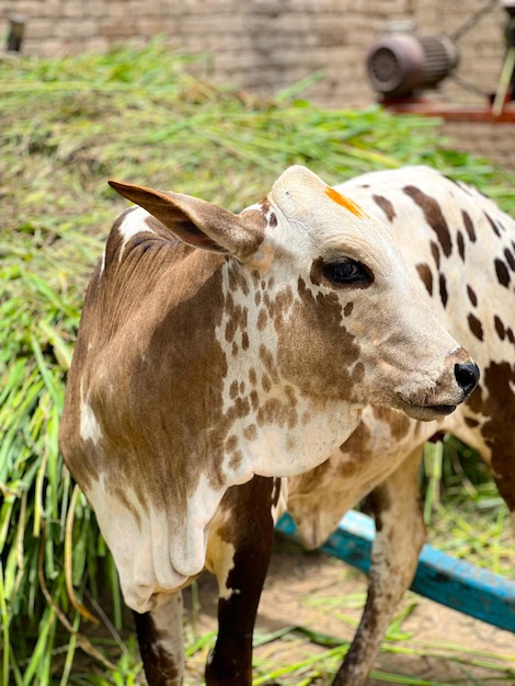
<path fill-rule="evenodd" d="M 333 686 L 363 686 L 403 593 L 416 571 L 425 540 L 419 470 L 414 450 L 370 495 L 376 518 L 368 597 L 351 649 Z"/>

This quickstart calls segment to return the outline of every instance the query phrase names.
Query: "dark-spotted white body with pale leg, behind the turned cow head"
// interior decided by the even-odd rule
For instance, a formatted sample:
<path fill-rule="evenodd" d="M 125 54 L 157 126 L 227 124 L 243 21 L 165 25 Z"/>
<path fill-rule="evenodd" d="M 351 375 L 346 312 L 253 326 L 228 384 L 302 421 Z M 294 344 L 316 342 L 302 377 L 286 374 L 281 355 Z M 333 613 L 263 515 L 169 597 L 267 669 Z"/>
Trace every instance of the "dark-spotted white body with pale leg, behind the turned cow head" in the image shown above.
<path fill-rule="evenodd" d="M 515 512 L 515 221 L 474 188 L 427 168 L 366 174 L 341 186 L 392 228 L 438 320 L 473 355 L 482 380 L 453 415 L 422 424 L 367 408 L 330 460 L 288 483 L 288 508 L 309 547 L 370 493 L 377 537 L 364 615 L 334 684 L 360 686 L 425 539 L 419 492 L 423 443 L 451 432 L 480 451 Z"/>

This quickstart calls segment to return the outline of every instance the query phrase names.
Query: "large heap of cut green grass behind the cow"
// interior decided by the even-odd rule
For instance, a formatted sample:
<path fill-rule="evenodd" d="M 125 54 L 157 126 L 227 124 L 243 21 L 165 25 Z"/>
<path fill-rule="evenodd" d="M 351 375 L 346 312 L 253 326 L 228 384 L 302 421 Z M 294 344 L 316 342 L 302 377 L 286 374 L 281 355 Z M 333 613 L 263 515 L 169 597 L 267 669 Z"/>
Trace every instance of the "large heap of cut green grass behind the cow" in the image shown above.
<path fill-rule="evenodd" d="M 330 183 L 430 163 L 515 211 L 514 179 L 443 148 L 437 122 L 258 99 L 198 69 L 160 42 L 0 59 L 0 684 L 130 684 L 139 670 L 118 634 L 113 563 L 57 445 L 83 288 L 126 205 L 108 178 L 238 210 L 294 162 Z M 108 632 L 87 638 L 81 603 L 103 615 L 107 597 Z"/>

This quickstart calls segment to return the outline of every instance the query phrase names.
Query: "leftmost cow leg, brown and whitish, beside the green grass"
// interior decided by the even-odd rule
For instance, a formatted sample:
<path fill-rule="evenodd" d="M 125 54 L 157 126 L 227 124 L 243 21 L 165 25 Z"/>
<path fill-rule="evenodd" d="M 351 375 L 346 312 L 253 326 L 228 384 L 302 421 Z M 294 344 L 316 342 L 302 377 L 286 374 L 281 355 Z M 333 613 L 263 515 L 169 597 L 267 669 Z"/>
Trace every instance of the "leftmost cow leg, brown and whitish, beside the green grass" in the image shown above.
<path fill-rule="evenodd" d="M 148 686 L 181 686 L 184 675 L 182 593 L 156 609 L 134 613 Z"/>

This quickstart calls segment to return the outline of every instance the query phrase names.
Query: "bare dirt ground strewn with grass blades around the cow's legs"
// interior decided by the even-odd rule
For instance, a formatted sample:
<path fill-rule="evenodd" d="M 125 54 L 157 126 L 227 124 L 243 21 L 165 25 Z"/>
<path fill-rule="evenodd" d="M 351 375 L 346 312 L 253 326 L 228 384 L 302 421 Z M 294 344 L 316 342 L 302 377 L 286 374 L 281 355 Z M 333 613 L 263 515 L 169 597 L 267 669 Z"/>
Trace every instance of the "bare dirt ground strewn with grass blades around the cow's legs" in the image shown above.
<path fill-rule="evenodd" d="M 337 637 L 342 642 L 350 641 L 354 633 L 351 622 L 358 619 L 365 594 L 365 575 L 324 553 L 306 553 L 297 544 L 279 538 L 261 599 L 256 636 L 300 626 Z M 215 579 L 209 574 L 198 581 L 198 604 L 196 634 L 215 631 L 217 588 Z M 191 616 L 192 599 L 188 593 L 185 594 L 185 605 Z M 416 676 L 422 679 L 421 684 L 435 686 L 515 684 L 513 633 L 411 592 L 405 594 L 399 613 L 404 610 L 408 617 L 400 627 L 391 630 L 390 640 L 384 644 L 376 659 L 370 686 L 379 686 L 386 681 L 400 685 L 405 683 L 405 676 Z M 450 643 L 458 644 L 459 651 L 453 651 Z M 392 647 L 396 652 L 389 652 L 388 647 Z M 407 649 L 404 654 L 399 654 L 401 649 Z M 328 650 L 295 632 L 266 642 L 254 651 L 254 677 L 259 678 L 260 674 L 268 673 L 272 668 L 288 666 Z M 188 686 L 203 683 L 205 658 L 206 651 L 201 651 L 188 659 Z M 511 674 L 506 676 L 505 672 L 495 672 L 489 666 L 492 662 L 496 665 L 510 664 Z M 276 675 L 260 683 L 325 686 L 331 683 L 328 667 L 330 670 L 332 665 L 335 668 L 336 664 L 335 661 L 320 660 L 305 671 Z M 386 679 L 378 674 L 375 677 L 376 672 L 393 676 Z"/>

